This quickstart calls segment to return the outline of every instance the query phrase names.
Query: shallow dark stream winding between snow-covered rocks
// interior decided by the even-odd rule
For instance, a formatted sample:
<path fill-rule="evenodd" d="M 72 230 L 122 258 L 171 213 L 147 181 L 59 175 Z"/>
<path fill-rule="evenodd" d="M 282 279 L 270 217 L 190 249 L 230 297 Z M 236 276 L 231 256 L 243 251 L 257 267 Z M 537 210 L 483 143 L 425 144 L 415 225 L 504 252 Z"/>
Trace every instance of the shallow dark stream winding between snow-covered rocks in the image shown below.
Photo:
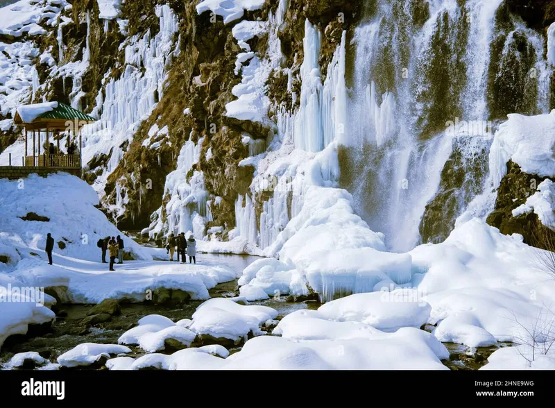
<path fill-rule="evenodd" d="M 198 254 L 197 262 L 210 264 L 223 264 L 234 271 L 243 271 L 250 263 L 259 259 L 250 255 L 225 255 L 225 254 Z M 212 298 L 239 296 L 237 280 L 216 285 L 209 290 Z M 278 318 L 287 316 L 300 309 L 318 309 L 320 305 L 315 303 L 289 303 L 286 296 L 270 298 L 251 305 L 264 305 L 278 311 Z M 202 300 L 190 300 L 189 303 L 180 306 L 155 305 L 153 303 L 123 303 L 121 304 L 121 315 L 113 316 L 112 321 L 100 323 L 94 327 L 81 325 L 83 318 L 94 305 L 62 305 L 63 317 L 57 317 L 51 329 L 45 334 L 35 333 L 26 336 L 16 335 L 8 338 L 1 348 L 0 364 L 8 360 L 18 352 L 36 351 L 42 357 L 56 362 L 59 355 L 78 346 L 81 343 L 105 343 L 116 344 L 121 334 L 137 325 L 140 318 L 149 314 L 161 314 L 173 321 L 182 318 L 191 318 L 196 308 L 203 303 Z M 431 332 L 433 326 L 425 326 L 425 330 Z M 454 343 L 445 343 L 450 351 L 451 358 L 444 361 L 445 366 L 452 370 L 477 370 L 487 363 L 488 357 L 499 347 L 510 346 L 509 343 L 499 343 L 498 346 L 469 350 L 466 346 Z M 144 350 L 138 347 L 130 347 L 133 350 L 132 357 L 144 355 Z M 241 346 L 230 348 L 230 352 L 241 350 Z"/>

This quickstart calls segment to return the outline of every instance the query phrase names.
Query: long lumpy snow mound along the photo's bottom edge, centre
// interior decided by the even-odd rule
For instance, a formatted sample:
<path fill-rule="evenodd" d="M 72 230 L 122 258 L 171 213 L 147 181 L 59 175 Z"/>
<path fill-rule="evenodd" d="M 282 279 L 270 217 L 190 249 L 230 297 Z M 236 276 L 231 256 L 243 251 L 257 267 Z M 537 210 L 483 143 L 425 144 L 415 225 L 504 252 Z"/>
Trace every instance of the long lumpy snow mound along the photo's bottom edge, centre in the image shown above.
<path fill-rule="evenodd" d="M 448 357 L 445 346 L 431 334 L 403 328 L 375 339 L 291 341 L 262 336 L 250 339 L 229 357 L 221 346 L 187 348 L 172 355 L 145 355 L 135 362 L 121 357 L 114 359 L 110 369 L 447 370 L 441 359 Z"/>

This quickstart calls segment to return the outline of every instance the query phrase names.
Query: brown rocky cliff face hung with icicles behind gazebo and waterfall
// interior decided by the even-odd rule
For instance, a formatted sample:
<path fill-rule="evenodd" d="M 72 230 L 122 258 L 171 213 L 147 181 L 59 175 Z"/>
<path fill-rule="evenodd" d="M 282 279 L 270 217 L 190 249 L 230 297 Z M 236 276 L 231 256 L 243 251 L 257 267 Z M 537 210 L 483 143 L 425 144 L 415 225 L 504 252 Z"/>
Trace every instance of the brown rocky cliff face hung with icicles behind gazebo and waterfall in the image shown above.
<path fill-rule="evenodd" d="M 499 1 L 481 76 L 484 119 L 493 122 L 493 131 L 481 139 L 456 135 L 450 153 L 447 149 L 438 163 L 427 157 L 441 148 L 432 139 L 444 130 L 446 119 L 475 112 L 466 99 L 479 93 L 466 76 L 477 68 L 472 64 L 478 58 L 468 49 L 481 37 L 472 25 L 476 10 L 465 8 L 465 2 L 457 2 L 456 12 L 427 0 L 253 0 L 251 6 L 230 0 L 232 9 L 216 3 L 19 1 L 19 15 L 32 17 L 0 27 L 6 71 L 0 78 L 0 153 L 21 151 L 20 130 L 12 126 L 17 105 L 68 103 L 99 119 L 84 132 L 84 178 L 119 228 L 144 230 L 153 238 L 170 230 L 224 241 L 241 236 L 264 248 L 302 206 L 302 194 L 293 194 L 297 187 L 291 180 L 314 175 L 300 164 L 332 141 L 345 145 L 338 148 L 341 174 L 332 176 L 355 194 L 357 212 L 371 212 L 385 201 L 388 193 L 382 187 L 391 189 L 389 176 L 396 168 L 378 176 L 365 176 L 361 169 L 372 173 L 399 146 L 384 140 L 376 151 L 347 146 L 345 140 L 353 128 L 364 127 L 367 116 L 381 117 L 384 123 L 374 130 L 386 131 L 386 115 L 395 112 L 391 105 L 403 105 L 409 95 L 412 105 L 395 113 L 398 121 L 416 118 L 409 130 L 415 132 L 418 157 L 409 164 L 437 164 L 441 173 L 437 188 L 422 203 L 420 222 L 411 228 L 420 233 L 420 242 L 438 242 L 450 234 L 456 216 L 484 193 L 499 122 L 509 113 L 539 114 L 555 107 L 555 76 L 544 69 L 542 42 L 555 21 L 554 1 Z M 364 31 L 384 10 L 379 30 Z M 425 37 L 429 51 L 411 56 L 407 33 L 422 33 L 425 27 L 432 32 Z M 371 44 L 370 35 L 376 39 Z M 368 67 L 361 74 L 364 58 Z M 410 68 L 408 74 L 403 67 Z M 553 77 L 544 78 L 546 73 Z M 359 87 L 375 103 L 361 104 Z M 551 92 L 546 94 L 546 87 Z M 364 105 L 360 124 L 340 112 L 357 110 L 357 104 Z M 351 130 L 344 133 L 345 126 Z M 305 156 L 293 154 L 297 150 Z M 333 173 L 325 165 L 321 171 Z M 332 176 L 323 179 L 333 183 Z M 529 241 L 538 220 L 533 213 L 511 216 L 524 199 L 510 187 L 515 177 L 511 167 L 488 221 Z M 407 177 L 409 189 L 418 185 L 416 179 Z M 273 187 L 283 182 L 287 192 L 259 188 L 266 182 Z M 357 195 L 361 191 L 371 194 Z M 509 203 L 511 194 L 515 201 Z M 404 201 L 404 192 L 398 197 Z M 407 200 L 404 210 L 420 205 Z M 387 223 L 370 224 L 381 231 Z"/>

